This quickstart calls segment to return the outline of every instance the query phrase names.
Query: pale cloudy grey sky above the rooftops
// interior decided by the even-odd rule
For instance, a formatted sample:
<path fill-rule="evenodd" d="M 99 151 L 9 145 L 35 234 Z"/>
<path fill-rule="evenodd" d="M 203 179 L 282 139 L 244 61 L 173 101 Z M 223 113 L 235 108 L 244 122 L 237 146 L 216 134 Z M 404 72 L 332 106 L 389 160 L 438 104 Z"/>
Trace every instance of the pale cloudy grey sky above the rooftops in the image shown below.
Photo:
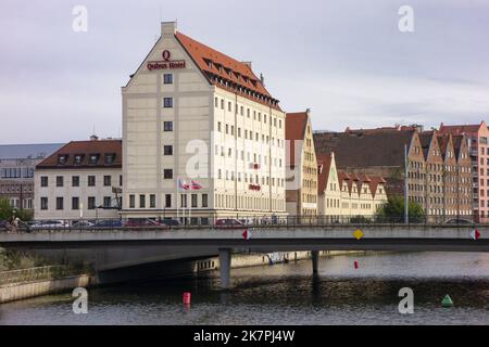
<path fill-rule="evenodd" d="M 73 30 L 76 5 L 86 31 Z M 2 0 L 0 144 L 120 137 L 121 87 L 174 20 L 252 61 L 315 130 L 489 120 L 488 0 Z"/>

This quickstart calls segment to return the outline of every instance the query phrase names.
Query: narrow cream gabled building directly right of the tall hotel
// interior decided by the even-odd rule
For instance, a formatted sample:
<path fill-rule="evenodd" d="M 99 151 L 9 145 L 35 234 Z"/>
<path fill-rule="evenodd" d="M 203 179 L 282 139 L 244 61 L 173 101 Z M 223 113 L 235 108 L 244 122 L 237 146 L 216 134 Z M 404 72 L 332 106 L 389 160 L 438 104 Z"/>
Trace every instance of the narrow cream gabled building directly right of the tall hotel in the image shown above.
<path fill-rule="evenodd" d="M 286 115 L 287 213 L 317 215 L 317 159 L 310 111 Z"/>

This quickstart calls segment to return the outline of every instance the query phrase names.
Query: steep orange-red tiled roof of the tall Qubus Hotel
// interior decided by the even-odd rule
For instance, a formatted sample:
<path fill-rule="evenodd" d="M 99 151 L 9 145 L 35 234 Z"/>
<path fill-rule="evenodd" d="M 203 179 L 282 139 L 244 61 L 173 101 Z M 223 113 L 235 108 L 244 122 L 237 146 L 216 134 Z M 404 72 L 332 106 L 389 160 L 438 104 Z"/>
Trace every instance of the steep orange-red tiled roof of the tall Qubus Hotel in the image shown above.
<path fill-rule="evenodd" d="M 278 100 L 268 93 L 247 63 L 238 62 L 179 31 L 175 33 L 175 37 L 211 83 L 275 110 L 280 110 Z"/>

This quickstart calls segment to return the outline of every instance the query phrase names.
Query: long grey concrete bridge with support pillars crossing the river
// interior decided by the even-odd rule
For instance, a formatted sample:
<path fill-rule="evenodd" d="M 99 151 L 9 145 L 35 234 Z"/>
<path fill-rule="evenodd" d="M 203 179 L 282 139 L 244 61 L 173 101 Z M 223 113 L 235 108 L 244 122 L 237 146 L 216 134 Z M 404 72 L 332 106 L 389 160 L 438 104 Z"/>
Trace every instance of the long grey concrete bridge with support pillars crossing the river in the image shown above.
<path fill-rule="evenodd" d="M 477 237 L 474 237 L 475 230 Z M 228 288 L 233 253 L 309 250 L 312 254 L 313 273 L 317 273 L 319 250 L 489 252 L 489 226 L 367 223 L 234 228 L 180 226 L 171 229 L 70 228 L 0 233 L 0 246 L 64 252 L 89 249 L 93 254 L 97 254 L 97 249 L 118 249 L 123 258 L 127 256 L 127 249 L 136 247 L 140 257 L 147 256 L 146 250 L 151 249 L 154 261 L 155 253 L 159 252 L 166 255 L 166 260 L 218 255 L 221 285 Z M 112 268 L 100 266 L 97 270 L 106 271 L 124 266 L 129 267 L 131 264 L 120 262 Z"/>

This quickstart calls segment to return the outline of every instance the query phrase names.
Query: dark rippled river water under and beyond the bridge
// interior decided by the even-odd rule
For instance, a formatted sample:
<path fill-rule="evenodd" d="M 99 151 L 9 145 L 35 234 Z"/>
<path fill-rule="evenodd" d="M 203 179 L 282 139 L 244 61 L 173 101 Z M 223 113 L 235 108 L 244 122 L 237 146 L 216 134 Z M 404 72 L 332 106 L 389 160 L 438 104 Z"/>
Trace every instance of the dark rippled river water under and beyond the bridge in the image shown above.
<path fill-rule="evenodd" d="M 73 312 L 70 293 L 9 303 L 0 324 L 489 324 L 489 254 L 367 253 L 321 258 L 316 278 L 302 260 L 231 279 L 229 292 L 216 272 L 91 288 L 87 314 Z M 399 313 L 402 287 L 414 291 L 412 314 Z"/>

